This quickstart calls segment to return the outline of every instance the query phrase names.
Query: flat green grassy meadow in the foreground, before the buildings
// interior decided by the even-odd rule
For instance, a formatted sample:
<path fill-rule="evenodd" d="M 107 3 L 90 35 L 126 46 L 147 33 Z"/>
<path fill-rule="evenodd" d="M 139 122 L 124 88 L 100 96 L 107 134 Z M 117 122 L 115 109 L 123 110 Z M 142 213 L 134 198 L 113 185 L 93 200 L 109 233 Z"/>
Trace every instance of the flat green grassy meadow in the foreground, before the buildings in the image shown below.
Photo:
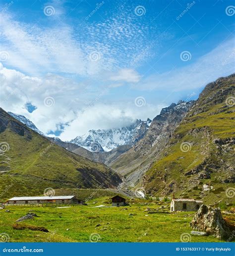
<path fill-rule="evenodd" d="M 180 242 L 182 234 L 191 232 L 189 223 L 195 212 L 168 213 L 167 203 L 151 201 L 130 202 L 122 207 L 93 207 L 111 206 L 108 199 L 102 197 L 89 205 L 70 208 L 8 206 L 10 212 L 0 210 L 0 234 L 6 233 L 9 242 Z M 144 211 L 147 207 L 156 210 Z M 15 221 L 28 212 L 39 217 L 18 222 L 18 229 L 14 229 Z M 49 232 L 30 230 L 29 225 L 44 227 Z M 213 236 L 188 234 L 191 242 L 220 242 Z"/>

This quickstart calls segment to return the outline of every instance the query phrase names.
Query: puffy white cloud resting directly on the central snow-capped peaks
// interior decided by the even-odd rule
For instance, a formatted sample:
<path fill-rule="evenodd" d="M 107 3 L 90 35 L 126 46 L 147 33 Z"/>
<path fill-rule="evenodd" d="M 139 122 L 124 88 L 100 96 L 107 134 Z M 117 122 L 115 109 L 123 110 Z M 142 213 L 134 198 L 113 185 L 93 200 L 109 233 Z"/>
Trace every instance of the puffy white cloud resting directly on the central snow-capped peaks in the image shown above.
<path fill-rule="evenodd" d="M 62 140 L 70 140 L 84 134 L 89 129 L 125 127 L 136 119 L 146 120 L 146 113 L 149 114 L 149 118 L 154 118 L 163 107 L 162 105 L 146 104 L 146 106 L 138 108 L 134 105 L 134 101 L 128 104 L 116 103 L 109 105 L 99 102 L 84 111 L 79 111 L 76 119 L 64 129 L 59 137 Z"/>

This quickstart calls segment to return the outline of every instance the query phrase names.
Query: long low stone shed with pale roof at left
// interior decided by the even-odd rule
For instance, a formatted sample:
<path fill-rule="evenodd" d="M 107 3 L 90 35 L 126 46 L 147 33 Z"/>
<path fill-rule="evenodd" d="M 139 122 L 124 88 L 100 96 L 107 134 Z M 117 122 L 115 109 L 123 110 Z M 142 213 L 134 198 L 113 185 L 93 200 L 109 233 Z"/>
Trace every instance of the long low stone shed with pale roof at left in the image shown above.
<path fill-rule="evenodd" d="M 84 201 L 75 198 L 75 195 L 59 195 L 59 196 L 22 196 L 12 197 L 5 204 L 38 204 L 38 203 L 61 203 L 70 204 L 78 203 L 85 204 Z"/>

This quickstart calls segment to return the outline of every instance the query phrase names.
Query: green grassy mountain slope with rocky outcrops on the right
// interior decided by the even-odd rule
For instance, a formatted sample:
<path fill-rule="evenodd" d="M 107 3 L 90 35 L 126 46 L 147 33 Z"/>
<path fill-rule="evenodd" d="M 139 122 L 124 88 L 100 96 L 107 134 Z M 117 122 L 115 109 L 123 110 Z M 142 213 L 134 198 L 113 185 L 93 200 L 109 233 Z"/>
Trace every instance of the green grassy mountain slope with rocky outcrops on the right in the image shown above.
<path fill-rule="evenodd" d="M 235 74 L 208 84 L 144 177 L 154 195 L 232 201 Z"/>

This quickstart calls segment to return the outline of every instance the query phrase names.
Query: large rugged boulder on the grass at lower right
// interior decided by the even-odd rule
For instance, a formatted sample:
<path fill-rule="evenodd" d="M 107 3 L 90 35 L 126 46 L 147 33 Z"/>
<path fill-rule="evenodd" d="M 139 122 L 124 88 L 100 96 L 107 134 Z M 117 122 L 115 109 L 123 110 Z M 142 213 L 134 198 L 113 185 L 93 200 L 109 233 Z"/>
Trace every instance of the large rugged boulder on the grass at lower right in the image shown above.
<path fill-rule="evenodd" d="M 190 226 L 194 230 L 207 232 L 219 239 L 226 239 L 231 233 L 222 217 L 220 208 L 213 209 L 204 204 L 196 212 Z"/>

